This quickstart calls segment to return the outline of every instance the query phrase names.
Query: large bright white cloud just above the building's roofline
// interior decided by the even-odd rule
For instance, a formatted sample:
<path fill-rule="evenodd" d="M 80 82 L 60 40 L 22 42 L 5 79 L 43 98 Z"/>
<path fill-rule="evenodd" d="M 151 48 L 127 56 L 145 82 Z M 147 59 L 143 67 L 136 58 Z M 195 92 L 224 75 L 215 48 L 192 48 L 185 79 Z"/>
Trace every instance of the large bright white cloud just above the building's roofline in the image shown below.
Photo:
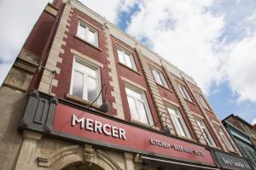
<path fill-rule="evenodd" d="M 148 38 L 154 51 L 195 78 L 208 92 L 220 82 L 223 72 L 218 37 L 224 18 L 207 12 L 212 1 L 154 1 L 141 4 L 127 31 L 139 39 Z"/>

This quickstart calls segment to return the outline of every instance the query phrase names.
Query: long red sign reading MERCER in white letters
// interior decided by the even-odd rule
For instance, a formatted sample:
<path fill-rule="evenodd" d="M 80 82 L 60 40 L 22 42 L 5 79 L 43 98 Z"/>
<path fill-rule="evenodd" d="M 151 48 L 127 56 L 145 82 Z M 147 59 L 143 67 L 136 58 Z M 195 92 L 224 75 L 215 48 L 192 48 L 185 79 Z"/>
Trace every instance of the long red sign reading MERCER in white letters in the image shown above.
<path fill-rule="evenodd" d="M 67 105 L 57 105 L 53 128 L 55 132 L 79 137 L 84 141 L 93 140 L 97 144 L 214 165 L 210 152 L 200 145 L 115 122 Z"/>

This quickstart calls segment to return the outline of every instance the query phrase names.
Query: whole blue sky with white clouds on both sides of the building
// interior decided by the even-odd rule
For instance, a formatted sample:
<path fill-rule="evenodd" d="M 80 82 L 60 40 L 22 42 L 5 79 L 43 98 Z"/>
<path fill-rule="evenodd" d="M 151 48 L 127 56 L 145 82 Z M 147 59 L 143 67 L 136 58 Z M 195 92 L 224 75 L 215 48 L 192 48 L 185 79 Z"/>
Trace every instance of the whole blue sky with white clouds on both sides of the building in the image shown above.
<path fill-rule="evenodd" d="M 48 2 L 0 0 L 0 84 Z M 255 0 L 80 2 L 193 77 L 221 120 L 256 123 Z"/>

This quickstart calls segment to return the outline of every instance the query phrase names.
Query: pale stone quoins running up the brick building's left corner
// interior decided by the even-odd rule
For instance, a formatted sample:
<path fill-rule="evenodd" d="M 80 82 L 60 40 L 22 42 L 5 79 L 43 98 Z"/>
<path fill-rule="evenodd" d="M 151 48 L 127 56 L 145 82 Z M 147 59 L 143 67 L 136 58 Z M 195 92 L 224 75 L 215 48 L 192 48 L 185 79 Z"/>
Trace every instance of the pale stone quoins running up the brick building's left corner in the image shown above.
<path fill-rule="evenodd" d="M 67 38 L 67 32 L 69 31 L 70 26 L 69 22 L 71 20 L 72 14 L 73 8 L 69 3 L 66 3 L 61 15 L 61 21 L 55 33 L 54 41 L 49 50 L 49 56 L 45 64 L 41 82 L 38 87 L 38 90 L 41 92 L 51 94 L 51 86 L 58 86 L 58 80 L 55 79 L 54 75 L 55 73 L 60 74 L 61 72 L 61 69 L 57 67 L 57 63 L 62 62 L 60 54 L 64 54 L 63 46 L 66 46 L 64 38 Z"/>

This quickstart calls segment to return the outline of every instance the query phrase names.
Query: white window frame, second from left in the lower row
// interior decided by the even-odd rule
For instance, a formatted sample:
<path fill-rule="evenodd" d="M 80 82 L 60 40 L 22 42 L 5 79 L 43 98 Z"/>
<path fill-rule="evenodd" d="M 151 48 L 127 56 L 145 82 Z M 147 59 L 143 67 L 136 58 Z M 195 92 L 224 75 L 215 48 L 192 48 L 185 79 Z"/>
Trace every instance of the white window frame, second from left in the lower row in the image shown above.
<path fill-rule="evenodd" d="M 127 94 L 126 93 L 126 88 L 129 88 L 131 91 L 134 91 L 137 94 L 141 94 L 143 100 L 142 99 L 137 99 L 135 96 L 131 96 L 130 94 Z M 131 84 L 125 83 L 125 93 L 126 93 L 126 99 L 127 99 L 127 102 L 128 102 L 128 106 L 129 106 L 129 111 L 130 111 L 130 105 L 129 105 L 128 97 L 130 97 L 132 99 L 135 99 L 136 101 L 139 100 L 139 101 L 143 102 L 145 112 L 146 112 L 146 116 L 148 118 L 148 123 L 146 123 L 146 124 L 153 125 L 154 124 L 153 117 L 152 117 L 151 111 L 149 109 L 148 100 L 147 100 L 147 97 L 146 97 L 146 94 L 144 93 L 144 91 L 142 89 L 139 89 L 137 87 L 132 86 Z M 136 108 L 137 108 L 137 102 L 136 102 Z M 131 111 L 130 111 L 130 113 L 131 113 Z M 138 114 L 138 111 L 137 111 L 137 114 Z M 142 120 L 138 120 L 135 117 L 132 117 L 132 114 L 131 114 L 131 120 L 135 120 L 137 122 L 143 122 Z M 145 122 L 143 122 L 143 123 L 145 123 Z"/>

